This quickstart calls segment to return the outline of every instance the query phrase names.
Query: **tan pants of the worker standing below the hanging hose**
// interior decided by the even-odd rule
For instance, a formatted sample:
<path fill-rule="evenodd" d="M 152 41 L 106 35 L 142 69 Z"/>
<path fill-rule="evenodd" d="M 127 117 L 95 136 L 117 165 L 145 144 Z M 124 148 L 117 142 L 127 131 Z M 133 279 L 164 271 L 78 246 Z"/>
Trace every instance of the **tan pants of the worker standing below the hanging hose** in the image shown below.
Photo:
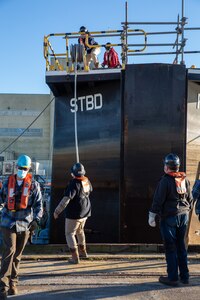
<path fill-rule="evenodd" d="M 83 219 L 65 219 L 65 237 L 67 245 L 71 249 L 77 248 L 78 245 L 85 245 L 84 226 L 87 218 Z"/>

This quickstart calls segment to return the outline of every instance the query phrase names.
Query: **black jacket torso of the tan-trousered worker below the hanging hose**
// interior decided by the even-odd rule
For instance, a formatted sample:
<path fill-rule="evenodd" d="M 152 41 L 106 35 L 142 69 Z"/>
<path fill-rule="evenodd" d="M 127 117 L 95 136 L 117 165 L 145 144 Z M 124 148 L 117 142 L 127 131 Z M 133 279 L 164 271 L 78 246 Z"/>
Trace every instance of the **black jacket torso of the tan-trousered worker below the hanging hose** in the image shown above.
<path fill-rule="evenodd" d="M 86 177 L 84 177 L 86 178 Z M 69 182 L 64 196 L 70 199 L 65 208 L 65 217 L 68 219 L 82 219 L 91 216 L 91 203 L 89 199 L 92 185 L 88 179 L 89 191 L 84 192 L 82 180 L 74 178 Z"/>

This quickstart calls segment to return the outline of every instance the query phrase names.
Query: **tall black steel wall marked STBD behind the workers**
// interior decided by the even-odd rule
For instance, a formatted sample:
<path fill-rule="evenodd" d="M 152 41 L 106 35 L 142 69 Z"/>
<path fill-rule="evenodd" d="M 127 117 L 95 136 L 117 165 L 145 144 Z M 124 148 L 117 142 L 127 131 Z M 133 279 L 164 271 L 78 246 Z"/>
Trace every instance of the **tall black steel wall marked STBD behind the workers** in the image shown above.
<path fill-rule="evenodd" d="M 107 71 L 107 72 L 106 72 Z M 54 93 L 55 125 L 51 211 L 61 200 L 74 142 L 74 75 L 47 72 Z M 168 64 L 128 65 L 78 75 L 77 125 L 80 161 L 94 192 L 89 243 L 159 243 L 147 224 L 162 159 L 176 152 L 185 167 L 186 70 Z M 64 214 L 52 220 L 50 243 L 65 243 Z"/>

